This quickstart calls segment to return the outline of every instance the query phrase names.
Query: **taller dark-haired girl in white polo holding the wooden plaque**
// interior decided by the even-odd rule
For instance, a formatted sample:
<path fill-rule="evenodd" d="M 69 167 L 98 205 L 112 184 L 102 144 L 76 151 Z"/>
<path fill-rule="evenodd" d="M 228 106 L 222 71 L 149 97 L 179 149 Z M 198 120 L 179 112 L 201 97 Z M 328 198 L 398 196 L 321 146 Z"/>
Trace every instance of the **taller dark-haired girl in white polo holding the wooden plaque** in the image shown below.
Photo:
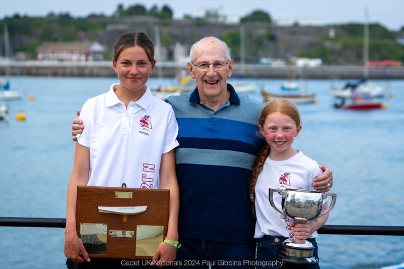
<path fill-rule="evenodd" d="M 154 70 L 154 46 L 141 32 L 122 34 L 114 47 L 112 66 L 119 83 L 90 98 L 81 110 L 85 124 L 76 143 L 67 192 L 65 255 L 68 268 L 116 268 L 120 259 L 90 260 L 77 236 L 77 185 L 170 189 L 167 238 L 153 261 L 170 262 L 178 244 L 178 183 L 174 148 L 178 125 L 170 104 L 154 97 L 146 82 Z M 153 167 L 142 174 L 142 167 Z M 100 197 L 100 200 L 103 198 Z"/>

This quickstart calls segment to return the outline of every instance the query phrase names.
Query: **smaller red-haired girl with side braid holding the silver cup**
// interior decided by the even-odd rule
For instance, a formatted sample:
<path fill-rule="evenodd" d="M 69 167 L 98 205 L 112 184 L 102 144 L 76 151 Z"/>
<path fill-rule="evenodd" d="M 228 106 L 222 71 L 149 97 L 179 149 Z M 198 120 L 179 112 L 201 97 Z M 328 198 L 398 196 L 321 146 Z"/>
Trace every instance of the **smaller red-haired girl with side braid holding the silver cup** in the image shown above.
<path fill-rule="evenodd" d="M 283 219 L 269 203 L 268 190 L 306 189 L 314 190 L 314 179 L 322 174 L 315 160 L 292 147 L 294 138 L 300 133 L 300 115 L 296 106 L 288 100 L 277 99 L 264 106 L 259 119 L 260 134 L 267 141 L 261 150 L 250 180 L 250 197 L 253 212 L 257 218 L 254 237 L 257 240 L 257 263 L 267 268 L 285 267 L 276 259 L 282 242 L 290 237 L 307 239 L 315 247 L 317 254 L 317 230 L 328 219 L 328 214 L 318 222 L 294 223 L 292 219 Z M 277 196 L 275 196 L 277 197 Z M 280 197 L 280 196 L 279 196 Z M 278 197 L 277 197 L 278 198 Z M 281 199 L 274 199 L 278 208 Z M 324 204 L 323 210 L 327 208 Z M 309 268 L 319 268 L 318 265 Z"/>

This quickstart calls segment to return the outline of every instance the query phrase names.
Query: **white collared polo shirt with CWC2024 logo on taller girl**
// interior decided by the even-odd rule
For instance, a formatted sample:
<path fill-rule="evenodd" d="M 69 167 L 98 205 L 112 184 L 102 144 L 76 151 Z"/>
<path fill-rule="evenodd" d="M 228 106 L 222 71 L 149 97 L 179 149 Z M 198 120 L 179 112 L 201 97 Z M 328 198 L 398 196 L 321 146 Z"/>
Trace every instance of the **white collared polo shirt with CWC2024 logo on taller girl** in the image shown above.
<path fill-rule="evenodd" d="M 147 85 L 126 109 L 115 94 L 118 85 L 88 99 L 81 109 L 85 128 L 77 141 L 90 149 L 87 185 L 157 189 L 161 155 L 178 146 L 174 111 Z"/>

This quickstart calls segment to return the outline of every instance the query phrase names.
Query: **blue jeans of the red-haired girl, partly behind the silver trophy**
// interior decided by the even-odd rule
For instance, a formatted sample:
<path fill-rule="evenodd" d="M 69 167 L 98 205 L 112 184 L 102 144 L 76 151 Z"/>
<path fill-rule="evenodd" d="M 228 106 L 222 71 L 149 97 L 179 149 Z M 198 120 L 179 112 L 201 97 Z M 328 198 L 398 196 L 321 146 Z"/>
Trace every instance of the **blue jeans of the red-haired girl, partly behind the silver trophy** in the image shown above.
<path fill-rule="evenodd" d="M 262 238 L 257 239 L 257 269 L 260 268 L 296 268 L 296 265 L 282 264 L 281 261 L 276 259 L 276 255 L 279 254 L 282 243 L 287 239 L 283 236 L 270 236 L 264 235 Z M 318 259 L 318 247 L 316 238 L 308 238 L 314 246 L 313 255 Z M 307 269 L 320 269 L 317 264 L 315 266 L 302 266 L 302 268 Z"/>

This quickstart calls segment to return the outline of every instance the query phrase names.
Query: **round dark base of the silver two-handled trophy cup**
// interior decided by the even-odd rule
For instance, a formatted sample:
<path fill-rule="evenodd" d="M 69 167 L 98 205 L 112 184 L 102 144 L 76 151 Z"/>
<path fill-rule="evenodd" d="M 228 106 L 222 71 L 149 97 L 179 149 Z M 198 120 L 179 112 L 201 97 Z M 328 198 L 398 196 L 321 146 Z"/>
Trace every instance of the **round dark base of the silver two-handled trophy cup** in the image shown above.
<path fill-rule="evenodd" d="M 317 265 L 319 260 L 313 256 L 314 246 L 306 241 L 304 247 L 298 247 L 297 244 L 291 242 L 284 242 L 281 252 L 277 258 L 286 263 L 299 264 L 299 265 Z"/>

